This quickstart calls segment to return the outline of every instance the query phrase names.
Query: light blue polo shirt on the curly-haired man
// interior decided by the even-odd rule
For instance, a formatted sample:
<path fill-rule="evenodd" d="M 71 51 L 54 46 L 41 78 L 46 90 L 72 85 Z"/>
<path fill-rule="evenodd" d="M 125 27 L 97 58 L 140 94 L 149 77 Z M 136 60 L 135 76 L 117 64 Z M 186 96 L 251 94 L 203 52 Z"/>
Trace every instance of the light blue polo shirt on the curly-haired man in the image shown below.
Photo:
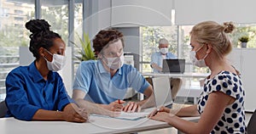
<path fill-rule="evenodd" d="M 143 93 L 148 86 L 148 81 L 145 81 L 143 75 L 131 65 L 124 64 L 111 77 L 110 73 L 104 69 L 101 60 L 82 62 L 73 82 L 74 90 L 86 93 L 85 100 L 103 104 L 123 99 L 128 87 Z"/>

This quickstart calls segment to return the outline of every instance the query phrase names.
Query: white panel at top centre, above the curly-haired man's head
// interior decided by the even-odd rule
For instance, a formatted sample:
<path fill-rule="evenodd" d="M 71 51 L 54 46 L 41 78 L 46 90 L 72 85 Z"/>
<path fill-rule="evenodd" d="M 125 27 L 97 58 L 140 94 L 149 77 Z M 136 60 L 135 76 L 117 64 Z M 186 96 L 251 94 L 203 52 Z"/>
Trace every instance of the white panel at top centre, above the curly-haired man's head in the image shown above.
<path fill-rule="evenodd" d="M 112 0 L 111 25 L 172 25 L 172 0 Z"/>

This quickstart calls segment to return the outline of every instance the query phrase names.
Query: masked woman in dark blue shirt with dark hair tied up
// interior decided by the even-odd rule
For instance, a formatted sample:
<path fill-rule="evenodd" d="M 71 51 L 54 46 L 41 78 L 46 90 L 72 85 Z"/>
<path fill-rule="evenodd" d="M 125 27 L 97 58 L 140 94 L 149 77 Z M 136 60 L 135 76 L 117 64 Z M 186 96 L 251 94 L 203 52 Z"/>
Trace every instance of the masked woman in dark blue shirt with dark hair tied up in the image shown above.
<path fill-rule="evenodd" d="M 87 113 L 68 97 L 61 76 L 56 72 L 65 64 L 65 42 L 49 27 L 45 20 L 26 23 L 26 29 L 32 32 L 29 50 L 36 59 L 7 75 L 6 117 L 85 122 Z"/>

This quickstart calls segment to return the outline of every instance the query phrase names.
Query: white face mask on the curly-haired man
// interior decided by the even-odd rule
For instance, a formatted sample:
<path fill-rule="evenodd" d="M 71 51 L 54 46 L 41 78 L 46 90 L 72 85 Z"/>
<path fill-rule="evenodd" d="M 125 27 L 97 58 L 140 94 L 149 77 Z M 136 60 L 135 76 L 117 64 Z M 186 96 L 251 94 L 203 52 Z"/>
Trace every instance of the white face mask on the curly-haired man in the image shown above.
<path fill-rule="evenodd" d="M 124 54 L 122 54 L 120 57 L 105 58 L 105 59 L 107 59 L 106 64 L 108 65 L 108 67 L 113 70 L 118 70 L 120 67 L 123 66 L 125 62 Z"/>

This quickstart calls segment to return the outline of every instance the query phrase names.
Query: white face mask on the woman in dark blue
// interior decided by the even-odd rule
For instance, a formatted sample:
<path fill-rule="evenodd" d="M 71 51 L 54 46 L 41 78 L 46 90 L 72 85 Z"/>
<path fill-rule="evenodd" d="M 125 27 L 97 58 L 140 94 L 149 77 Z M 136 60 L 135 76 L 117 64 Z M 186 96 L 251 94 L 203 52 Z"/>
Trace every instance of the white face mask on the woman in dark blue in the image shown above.
<path fill-rule="evenodd" d="M 49 53 L 48 50 L 46 50 L 46 52 Z M 52 55 L 51 62 L 49 62 L 47 59 L 44 58 L 47 62 L 48 70 L 53 70 L 53 71 L 61 70 L 64 64 L 66 64 L 66 57 L 64 55 L 59 55 L 55 53 L 54 54 L 49 53 L 49 54 Z"/>

